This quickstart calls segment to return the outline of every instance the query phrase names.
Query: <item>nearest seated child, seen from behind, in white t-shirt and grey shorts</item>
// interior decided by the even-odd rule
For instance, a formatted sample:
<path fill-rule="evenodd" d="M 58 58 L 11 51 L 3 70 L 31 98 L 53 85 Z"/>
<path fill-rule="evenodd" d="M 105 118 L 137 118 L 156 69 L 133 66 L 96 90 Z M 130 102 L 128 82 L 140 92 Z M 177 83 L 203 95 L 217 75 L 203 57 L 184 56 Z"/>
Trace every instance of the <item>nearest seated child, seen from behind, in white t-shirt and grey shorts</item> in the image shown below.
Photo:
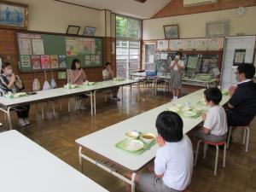
<path fill-rule="evenodd" d="M 138 173 L 135 183 L 143 192 L 181 192 L 188 187 L 193 171 L 193 149 L 189 137 L 183 135 L 183 120 L 177 113 L 165 111 L 158 115 L 155 126 L 160 148 L 154 172 Z M 131 186 L 127 184 L 126 190 L 131 191 Z"/>

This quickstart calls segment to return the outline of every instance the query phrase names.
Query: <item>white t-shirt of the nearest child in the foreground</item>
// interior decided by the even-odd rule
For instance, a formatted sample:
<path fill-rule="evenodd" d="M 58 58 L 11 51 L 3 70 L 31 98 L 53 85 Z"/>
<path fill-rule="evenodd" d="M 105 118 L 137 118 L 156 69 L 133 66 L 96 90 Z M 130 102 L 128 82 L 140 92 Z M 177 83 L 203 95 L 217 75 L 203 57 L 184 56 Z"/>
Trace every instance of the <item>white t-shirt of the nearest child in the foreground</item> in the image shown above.
<path fill-rule="evenodd" d="M 193 171 L 193 149 L 189 137 L 177 143 L 166 143 L 156 152 L 154 172 L 172 189 L 183 190 L 189 185 Z"/>

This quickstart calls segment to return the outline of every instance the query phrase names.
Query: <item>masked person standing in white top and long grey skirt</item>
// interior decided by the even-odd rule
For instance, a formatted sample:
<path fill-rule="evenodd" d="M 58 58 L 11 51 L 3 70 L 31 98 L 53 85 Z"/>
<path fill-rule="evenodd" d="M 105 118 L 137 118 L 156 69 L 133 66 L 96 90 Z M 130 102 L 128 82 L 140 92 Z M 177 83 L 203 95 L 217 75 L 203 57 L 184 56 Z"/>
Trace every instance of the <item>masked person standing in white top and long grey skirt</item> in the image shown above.
<path fill-rule="evenodd" d="M 184 62 L 182 61 L 182 52 L 177 52 L 174 60 L 170 64 L 171 72 L 171 88 L 173 100 L 178 98 L 179 92 L 182 87 L 182 72 L 184 67 Z"/>

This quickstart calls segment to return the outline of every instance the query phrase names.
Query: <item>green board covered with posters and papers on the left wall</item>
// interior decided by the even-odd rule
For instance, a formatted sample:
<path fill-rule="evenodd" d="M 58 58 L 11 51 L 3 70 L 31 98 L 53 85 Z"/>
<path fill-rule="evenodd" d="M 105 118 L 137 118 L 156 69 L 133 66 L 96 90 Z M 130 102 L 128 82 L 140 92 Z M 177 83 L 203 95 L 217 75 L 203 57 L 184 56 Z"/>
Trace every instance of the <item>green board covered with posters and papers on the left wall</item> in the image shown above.
<path fill-rule="evenodd" d="M 102 67 L 102 38 L 17 32 L 21 72 L 69 69 L 73 59 L 82 67 Z"/>

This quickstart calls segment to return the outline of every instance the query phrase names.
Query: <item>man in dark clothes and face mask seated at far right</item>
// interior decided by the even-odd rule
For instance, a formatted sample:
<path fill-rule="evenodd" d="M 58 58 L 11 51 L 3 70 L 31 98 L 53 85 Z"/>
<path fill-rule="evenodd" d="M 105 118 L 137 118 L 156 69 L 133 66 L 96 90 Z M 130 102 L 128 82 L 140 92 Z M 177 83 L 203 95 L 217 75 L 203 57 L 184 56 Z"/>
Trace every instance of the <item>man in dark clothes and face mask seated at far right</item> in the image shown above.
<path fill-rule="evenodd" d="M 253 82 L 255 67 L 244 64 L 237 67 L 237 86 L 230 87 L 227 121 L 229 126 L 248 125 L 256 113 L 256 84 Z"/>

